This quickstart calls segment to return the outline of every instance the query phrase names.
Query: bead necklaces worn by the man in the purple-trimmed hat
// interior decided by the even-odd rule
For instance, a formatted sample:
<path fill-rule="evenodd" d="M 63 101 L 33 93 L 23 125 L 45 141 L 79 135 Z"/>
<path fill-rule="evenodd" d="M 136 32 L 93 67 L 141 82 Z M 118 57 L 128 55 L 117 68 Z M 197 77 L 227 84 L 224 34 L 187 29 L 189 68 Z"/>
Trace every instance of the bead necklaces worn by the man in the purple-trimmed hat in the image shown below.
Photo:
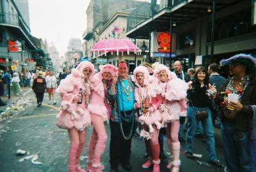
<path fill-rule="evenodd" d="M 228 105 L 228 94 L 235 93 L 238 94 L 239 99 L 244 94 L 244 90 L 246 89 L 250 80 L 250 76 L 246 75 L 241 79 L 241 82 L 238 83 L 237 87 L 235 88 L 236 78 L 234 76 L 231 78 L 230 82 L 228 82 L 227 88 L 225 90 L 225 96 L 223 97 L 223 102 L 221 102 L 221 107 L 225 107 Z"/>

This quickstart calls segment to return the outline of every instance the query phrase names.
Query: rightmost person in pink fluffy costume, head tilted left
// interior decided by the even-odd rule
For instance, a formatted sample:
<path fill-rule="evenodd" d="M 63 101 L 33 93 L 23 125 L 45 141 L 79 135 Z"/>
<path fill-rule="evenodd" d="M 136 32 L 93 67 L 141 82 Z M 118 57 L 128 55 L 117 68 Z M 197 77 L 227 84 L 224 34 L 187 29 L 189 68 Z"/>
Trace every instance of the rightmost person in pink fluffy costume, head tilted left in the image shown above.
<path fill-rule="evenodd" d="M 167 165 L 172 172 L 178 172 L 180 166 L 180 143 L 178 139 L 180 117 L 186 117 L 186 91 L 188 84 L 177 78 L 163 64 L 159 64 L 154 69 L 157 80 L 158 93 L 162 96 L 162 124 L 166 127 L 166 137 L 169 150 L 172 154 L 171 162 Z"/>

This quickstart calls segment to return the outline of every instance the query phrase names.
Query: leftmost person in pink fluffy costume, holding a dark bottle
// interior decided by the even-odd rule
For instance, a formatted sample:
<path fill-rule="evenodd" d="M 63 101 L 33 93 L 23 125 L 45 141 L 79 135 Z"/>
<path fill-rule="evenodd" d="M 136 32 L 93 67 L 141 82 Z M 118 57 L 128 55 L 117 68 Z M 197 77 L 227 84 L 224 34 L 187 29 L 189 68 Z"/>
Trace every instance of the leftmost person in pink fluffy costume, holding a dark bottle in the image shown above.
<path fill-rule="evenodd" d="M 86 172 L 79 167 L 79 157 L 83 152 L 86 139 L 85 128 L 90 125 L 90 112 L 87 106 L 90 102 L 90 80 L 95 70 L 91 62 L 81 62 L 72 73 L 61 80 L 57 92 L 61 96 L 61 110 L 57 115 L 58 127 L 68 129 L 70 139 L 68 171 Z M 80 96 L 81 90 L 83 97 Z M 78 104 L 77 102 L 81 101 Z"/>

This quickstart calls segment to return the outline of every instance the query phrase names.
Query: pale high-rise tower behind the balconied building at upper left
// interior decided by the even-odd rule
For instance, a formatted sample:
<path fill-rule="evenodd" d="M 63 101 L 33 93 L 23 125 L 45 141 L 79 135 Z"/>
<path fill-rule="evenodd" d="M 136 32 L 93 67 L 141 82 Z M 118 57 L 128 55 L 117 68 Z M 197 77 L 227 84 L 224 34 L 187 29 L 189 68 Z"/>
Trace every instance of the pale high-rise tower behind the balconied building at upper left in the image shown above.
<path fill-rule="evenodd" d="M 28 7 L 28 0 L 13 0 L 19 9 L 22 18 L 25 20 L 28 27 L 30 27 L 30 20 L 29 20 L 29 7 Z"/>

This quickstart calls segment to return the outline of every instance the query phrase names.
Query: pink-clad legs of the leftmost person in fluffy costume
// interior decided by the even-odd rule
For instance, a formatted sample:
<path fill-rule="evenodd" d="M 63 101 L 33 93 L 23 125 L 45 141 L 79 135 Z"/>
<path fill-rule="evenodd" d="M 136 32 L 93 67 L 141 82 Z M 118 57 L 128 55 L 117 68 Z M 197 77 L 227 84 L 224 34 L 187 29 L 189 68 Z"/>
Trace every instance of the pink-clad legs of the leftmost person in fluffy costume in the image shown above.
<path fill-rule="evenodd" d="M 73 172 L 79 168 L 79 157 L 83 152 L 86 131 L 77 131 L 77 129 L 73 127 L 72 129 L 68 129 L 68 136 L 70 139 L 68 171 Z"/>

